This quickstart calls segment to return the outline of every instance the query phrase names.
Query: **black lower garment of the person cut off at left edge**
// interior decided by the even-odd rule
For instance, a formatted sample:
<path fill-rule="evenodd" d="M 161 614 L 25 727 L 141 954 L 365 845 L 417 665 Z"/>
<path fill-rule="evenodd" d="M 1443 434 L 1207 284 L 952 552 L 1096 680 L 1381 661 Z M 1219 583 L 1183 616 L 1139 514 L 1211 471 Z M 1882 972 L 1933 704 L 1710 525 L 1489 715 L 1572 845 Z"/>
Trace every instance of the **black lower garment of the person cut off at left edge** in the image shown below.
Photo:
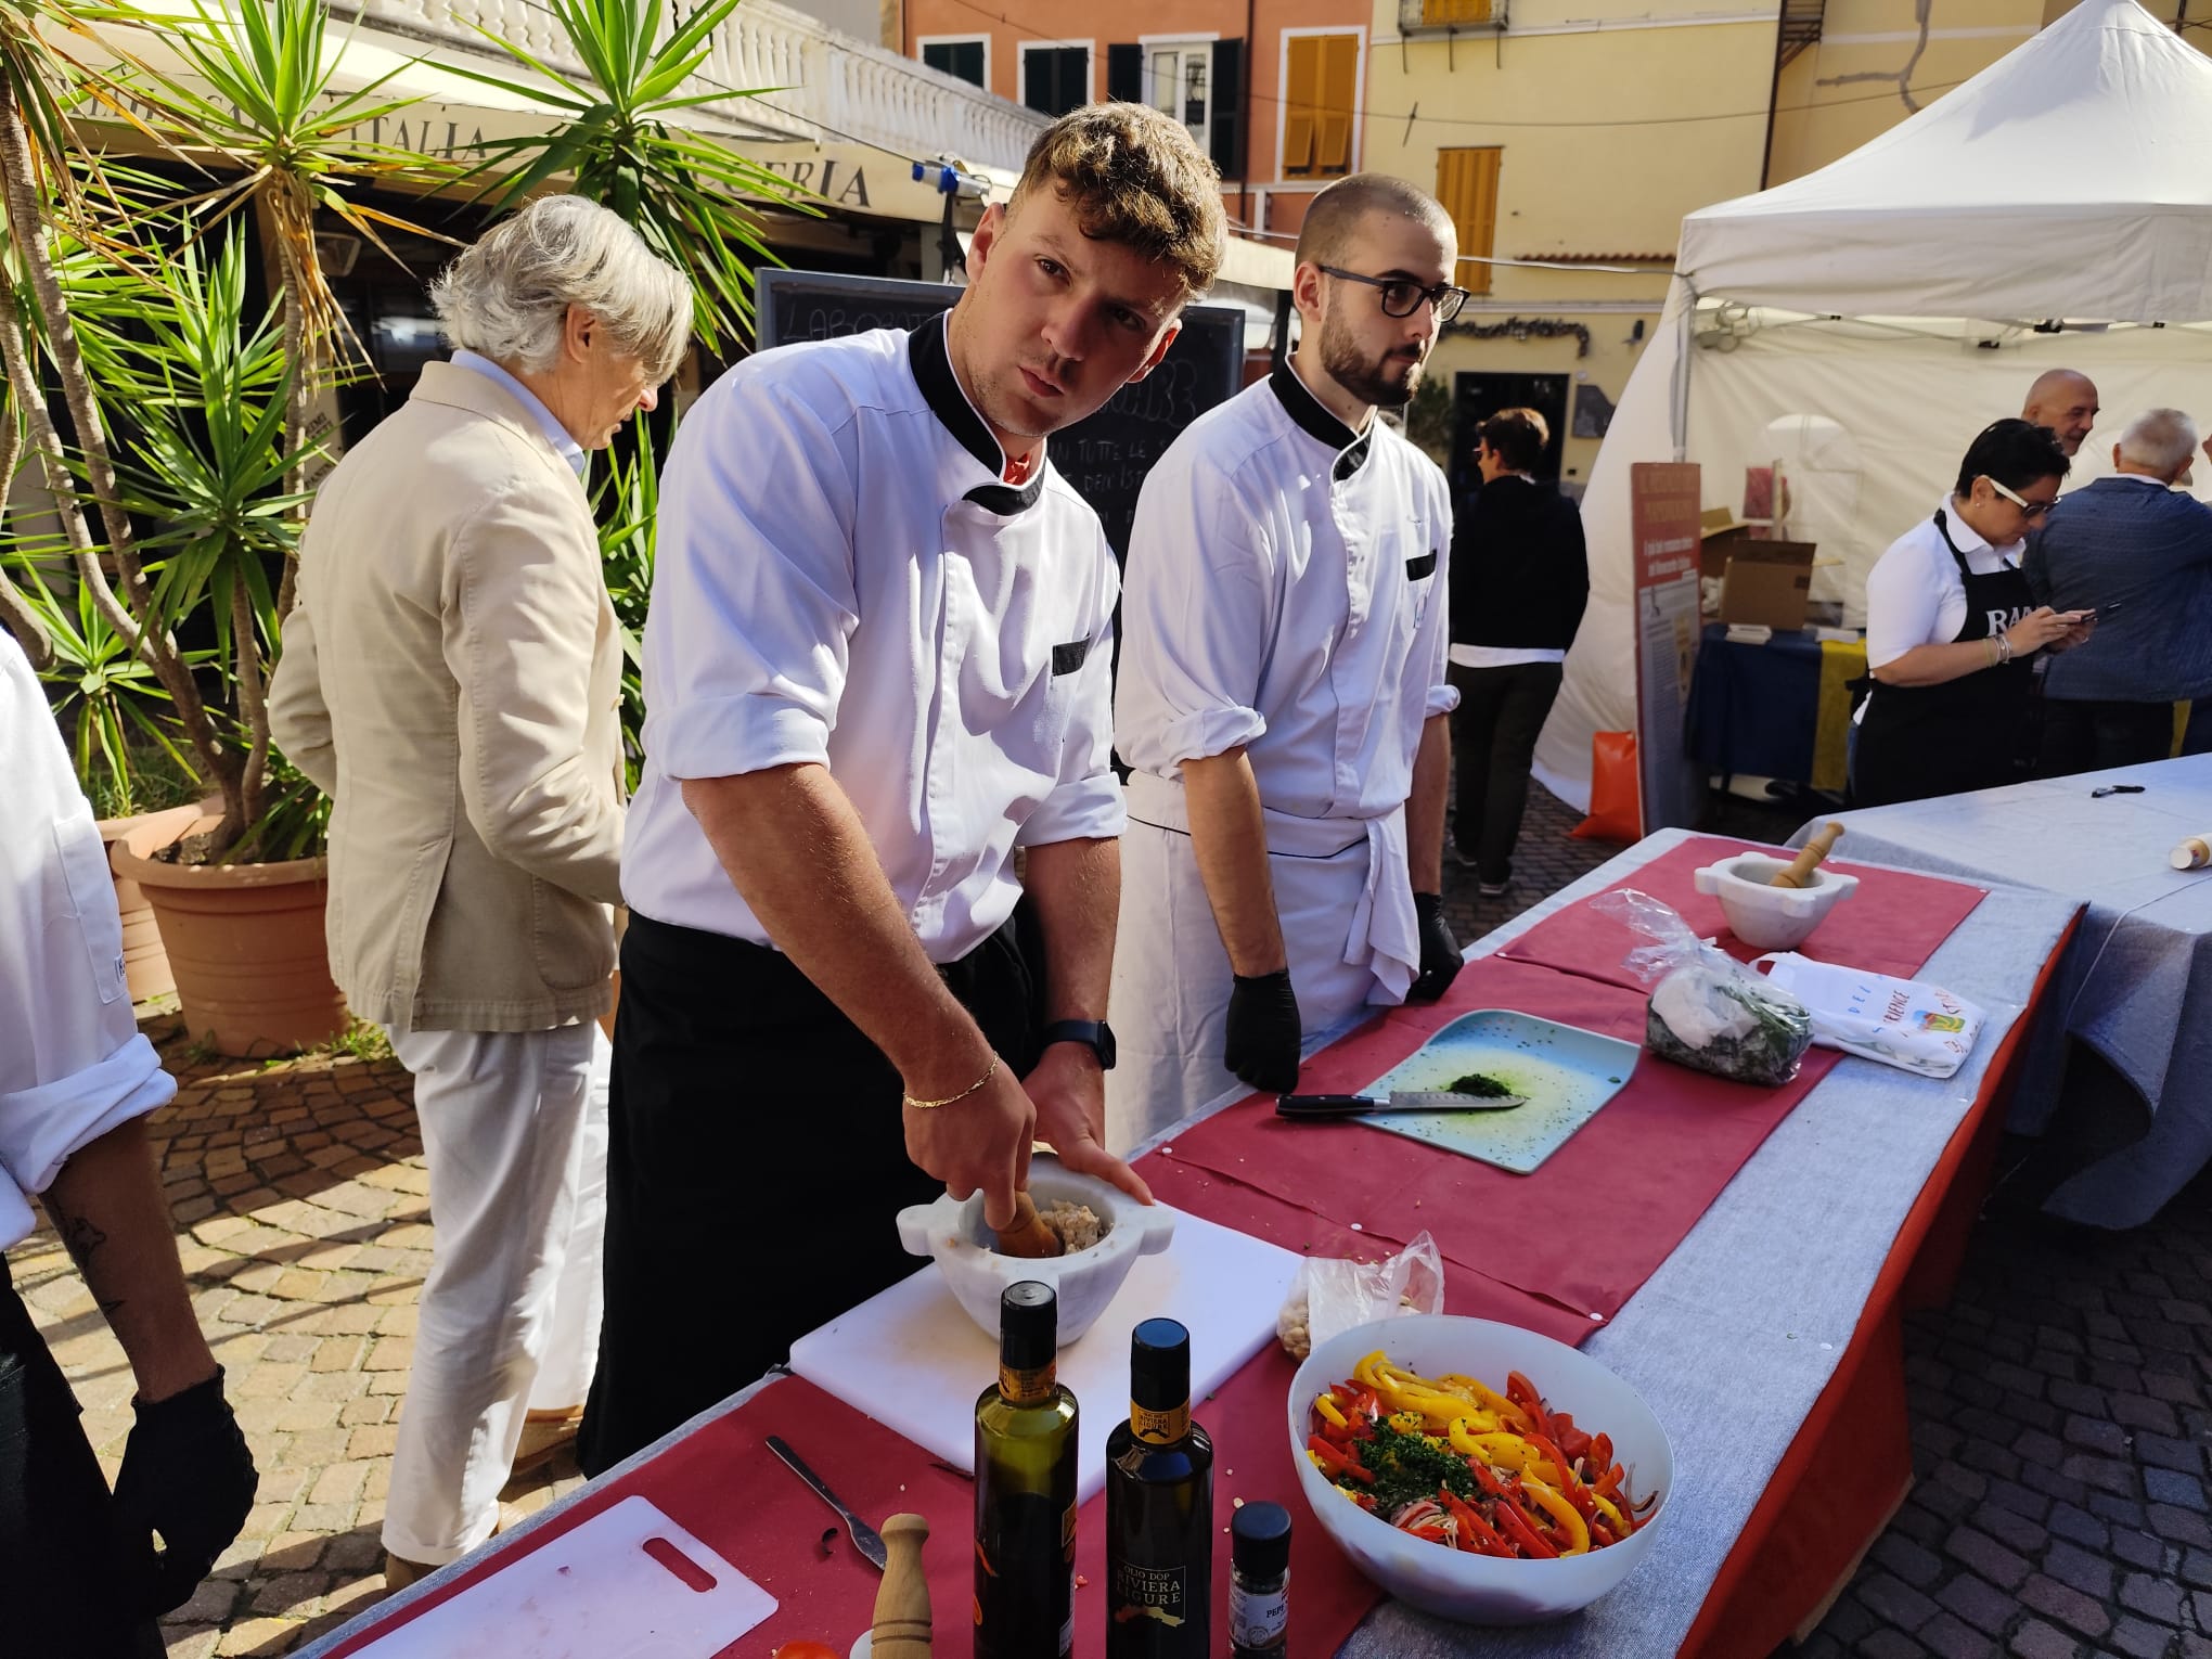
<path fill-rule="evenodd" d="M 0 1259 L 0 1652 L 161 1659 L 133 1610 L 108 1482 Z"/>

